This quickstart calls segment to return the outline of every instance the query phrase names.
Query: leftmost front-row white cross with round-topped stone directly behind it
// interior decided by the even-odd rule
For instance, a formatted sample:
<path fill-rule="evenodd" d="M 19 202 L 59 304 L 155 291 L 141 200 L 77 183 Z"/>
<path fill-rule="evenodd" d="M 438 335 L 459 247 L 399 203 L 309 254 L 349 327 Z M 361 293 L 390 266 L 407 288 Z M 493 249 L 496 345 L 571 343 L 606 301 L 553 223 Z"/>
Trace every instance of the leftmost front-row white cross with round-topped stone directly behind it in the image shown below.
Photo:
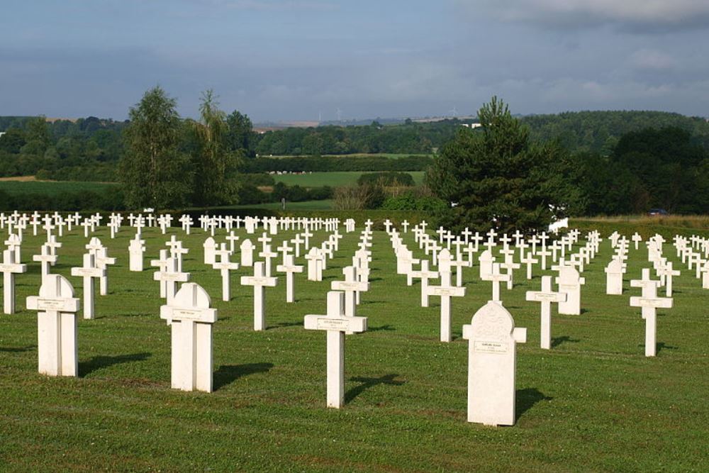
<path fill-rule="evenodd" d="M 74 298 L 72 284 L 60 274 L 50 274 L 43 279 L 39 296 L 29 296 L 26 305 L 30 311 L 38 311 L 40 374 L 76 377 L 79 374 L 79 299 Z"/>

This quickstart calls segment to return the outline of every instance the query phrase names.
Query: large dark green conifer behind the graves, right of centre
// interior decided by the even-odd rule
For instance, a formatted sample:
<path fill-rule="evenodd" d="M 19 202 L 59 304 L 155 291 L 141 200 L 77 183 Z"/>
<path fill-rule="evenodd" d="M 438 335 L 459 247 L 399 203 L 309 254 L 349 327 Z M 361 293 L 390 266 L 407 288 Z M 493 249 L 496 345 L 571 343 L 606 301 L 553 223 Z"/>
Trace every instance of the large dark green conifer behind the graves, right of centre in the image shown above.
<path fill-rule="evenodd" d="M 478 117 L 481 128 L 461 128 L 428 172 L 432 191 L 455 204 L 441 213 L 440 223 L 453 230 L 529 233 L 563 216 L 574 199 L 564 184 L 562 148 L 532 143 L 528 128 L 497 97 Z"/>

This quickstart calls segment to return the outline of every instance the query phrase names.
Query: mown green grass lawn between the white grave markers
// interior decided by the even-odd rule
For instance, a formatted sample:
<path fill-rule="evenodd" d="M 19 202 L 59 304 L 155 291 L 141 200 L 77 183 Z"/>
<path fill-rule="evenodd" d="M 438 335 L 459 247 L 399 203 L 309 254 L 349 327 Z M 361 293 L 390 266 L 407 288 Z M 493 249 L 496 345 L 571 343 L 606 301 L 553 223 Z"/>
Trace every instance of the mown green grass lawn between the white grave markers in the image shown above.
<path fill-rule="evenodd" d="M 218 309 L 211 394 L 170 389 L 170 330 L 160 319 L 155 268 L 128 271 L 128 241 L 96 232 L 117 257 L 109 293 L 96 296 L 96 319 L 79 317 L 79 377 L 37 373 L 37 313 L 25 299 L 40 284 L 38 254 L 45 235 L 26 231 L 28 272 L 16 277 L 18 313 L 0 316 L 0 469 L 7 471 L 530 471 L 700 472 L 709 464 L 709 315 L 707 293 L 674 248 L 666 256 L 682 269 L 674 307 L 658 316 L 657 357 L 644 356 L 644 321 L 629 306 L 629 279 L 648 267 L 647 251 L 630 248 L 625 291 L 605 295 L 603 268 L 610 243 L 582 274 L 581 316 L 552 309 L 552 350 L 541 350 L 539 304 L 525 291 L 540 274 L 502 300 L 526 327 L 518 345 L 517 421 L 504 428 L 466 421 L 467 340 L 462 325 L 490 299 L 491 283 L 466 269 L 467 294 L 452 301 L 452 343 L 439 341 L 440 298 L 420 307 L 420 286 L 396 274 L 389 238 L 374 232 L 370 289 L 358 316 L 369 330 L 348 335 L 345 406 L 325 407 L 325 334 L 304 330 L 303 316 L 325 313 L 330 282 L 342 279 L 361 227 L 345 233 L 323 282 L 296 275 L 296 303 L 285 303 L 285 281 L 267 289 L 267 327 L 254 332 L 252 288 L 239 286 L 252 268 L 232 273 L 232 300 L 220 300 L 220 275 L 203 265 L 207 233 L 161 235 L 143 230 L 145 261 L 166 249 L 174 233 L 189 248 L 184 270 Z M 340 231 L 343 231 L 342 229 Z M 245 230 L 237 231 L 245 238 Z M 250 235 L 253 243 L 260 235 Z M 272 247 L 292 232 L 273 235 Z M 325 232 L 316 232 L 319 243 Z M 6 237 L 6 234 L 2 234 Z M 217 234 L 224 241 L 223 230 Z M 417 249 L 413 234 L 401 234 Z M 603 235 L 604 237 L 607 235 Z M 630 236 L 630 235 L 627 235 Z M 63 274 L 82 296 L 81 263 L 88 239 L 75 228 L 59 238 Z M 258 243 L 257 243 L 258 245 Z M 416 252 L 420 256 L 422 252 Z M 238 261 L 238 257 L 232 260 Z M 300 260 L 299 264 L 302 264 Z M 146 265 L 147 266 L 147 265 Z M 98 291 L 98 289 L 96 289 Z"/>

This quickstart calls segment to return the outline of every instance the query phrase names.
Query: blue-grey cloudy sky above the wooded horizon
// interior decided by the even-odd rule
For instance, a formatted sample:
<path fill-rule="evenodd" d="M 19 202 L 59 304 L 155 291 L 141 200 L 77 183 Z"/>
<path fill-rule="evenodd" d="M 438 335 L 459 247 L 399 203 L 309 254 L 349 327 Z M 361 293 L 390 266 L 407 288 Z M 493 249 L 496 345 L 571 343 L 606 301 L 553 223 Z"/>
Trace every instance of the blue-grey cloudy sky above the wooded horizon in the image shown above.
<path fill-rule="evenodd" d="M 709 0 L 3 0 L 0 116 L 709 116 Z"/>

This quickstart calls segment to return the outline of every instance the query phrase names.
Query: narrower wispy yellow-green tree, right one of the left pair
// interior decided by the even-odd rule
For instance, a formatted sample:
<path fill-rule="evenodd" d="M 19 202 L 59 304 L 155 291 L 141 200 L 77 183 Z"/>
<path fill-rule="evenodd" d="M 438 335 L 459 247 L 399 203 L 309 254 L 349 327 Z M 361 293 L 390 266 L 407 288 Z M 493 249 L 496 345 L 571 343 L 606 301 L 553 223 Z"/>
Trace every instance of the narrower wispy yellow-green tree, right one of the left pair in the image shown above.
<path fill-rule="evenodd" d="M 204 91 L 199 121 L 191 121 L 196 136 L 192 153 L 194 204 L 201 206 L 235 204 L 235 174 L 238 155 L 228 149 L 226 114 L 219 108 L 214 92 Z"/>

